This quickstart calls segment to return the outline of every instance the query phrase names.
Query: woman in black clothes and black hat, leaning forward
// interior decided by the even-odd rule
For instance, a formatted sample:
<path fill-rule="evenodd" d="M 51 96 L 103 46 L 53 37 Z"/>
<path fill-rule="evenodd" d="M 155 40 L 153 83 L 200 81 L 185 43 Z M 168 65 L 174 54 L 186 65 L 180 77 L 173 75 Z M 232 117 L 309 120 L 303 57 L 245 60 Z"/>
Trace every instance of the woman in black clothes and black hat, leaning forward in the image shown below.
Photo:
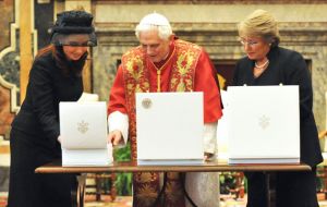
<path fill-rule="evenodd" d="M 59 102 L 83 93 L 82 70 L 96 46 L 92 14 L 57 15 L 51 44 L 41 49 L 29 72 L 26 98 L 12 123 L 9 207 L 71 207 L 69 174 L 36 174 L 35 168 L 61 158 Z"/>

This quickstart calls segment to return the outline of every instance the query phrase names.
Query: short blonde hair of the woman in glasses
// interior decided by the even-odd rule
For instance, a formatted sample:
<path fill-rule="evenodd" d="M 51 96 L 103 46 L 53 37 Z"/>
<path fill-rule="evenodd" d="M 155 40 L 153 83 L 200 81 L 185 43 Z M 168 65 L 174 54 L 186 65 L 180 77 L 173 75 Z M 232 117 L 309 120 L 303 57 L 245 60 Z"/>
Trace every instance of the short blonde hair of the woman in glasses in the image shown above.
<path fill-rule="evenodd" d="M 280 41 L 279 31 L 275 17 L 265 10 L 255 10 L 238 25 L 239 36 L 258 36 L 264 38 L 271 47 Z"/>

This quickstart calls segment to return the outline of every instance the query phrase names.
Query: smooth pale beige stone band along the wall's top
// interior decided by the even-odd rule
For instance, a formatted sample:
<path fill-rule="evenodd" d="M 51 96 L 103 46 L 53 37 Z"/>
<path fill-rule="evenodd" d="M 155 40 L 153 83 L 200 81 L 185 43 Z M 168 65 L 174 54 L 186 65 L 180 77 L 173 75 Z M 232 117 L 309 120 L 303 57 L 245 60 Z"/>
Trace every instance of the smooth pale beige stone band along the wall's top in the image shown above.
<path fill-rule="evenodd" d="M 327 22 L 327 4 L 97 4 L 97 23 L 131 23 L 158 12 L 171 23 L 235 23 L 264 9 L 280 22 Z"/>

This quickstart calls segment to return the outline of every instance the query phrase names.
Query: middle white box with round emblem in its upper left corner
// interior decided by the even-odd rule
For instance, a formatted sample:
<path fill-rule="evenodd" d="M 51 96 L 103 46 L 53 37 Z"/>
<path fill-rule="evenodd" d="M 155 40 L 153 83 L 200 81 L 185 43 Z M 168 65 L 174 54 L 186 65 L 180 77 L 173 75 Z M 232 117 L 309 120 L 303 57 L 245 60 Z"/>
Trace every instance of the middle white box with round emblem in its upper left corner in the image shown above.
<path fill-rule="evenodd" d="M 138 165 L 201 165 L 203 93 L 136 93 Z"/>

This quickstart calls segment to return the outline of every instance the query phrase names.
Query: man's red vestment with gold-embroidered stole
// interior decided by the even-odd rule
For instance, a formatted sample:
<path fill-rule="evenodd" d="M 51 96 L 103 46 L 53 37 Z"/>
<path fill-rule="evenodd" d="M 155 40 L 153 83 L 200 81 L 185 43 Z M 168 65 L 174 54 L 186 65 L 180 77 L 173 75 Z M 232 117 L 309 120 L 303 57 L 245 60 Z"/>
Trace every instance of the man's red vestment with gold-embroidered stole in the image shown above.
<path fill-rule="evenodd" d="M 132 160 L 137 158 L 135 93 L 138 92 L 204 92 L 204 122 L 217 122 L 222 115 L 216 70 L 203 48 L 173 40 L 167 59 L 159 63 L 153 63 L 142 47 L 133 48 L 122 57 L 108 106 L 108 114 L 120 111 L 129 117 Z M 158 192 L 157 172 L 133 174 L 133 206 L 152 206 Z M 168 173 L 164 198 L 165 206 L 185 206 L 179 173 Z"/>

